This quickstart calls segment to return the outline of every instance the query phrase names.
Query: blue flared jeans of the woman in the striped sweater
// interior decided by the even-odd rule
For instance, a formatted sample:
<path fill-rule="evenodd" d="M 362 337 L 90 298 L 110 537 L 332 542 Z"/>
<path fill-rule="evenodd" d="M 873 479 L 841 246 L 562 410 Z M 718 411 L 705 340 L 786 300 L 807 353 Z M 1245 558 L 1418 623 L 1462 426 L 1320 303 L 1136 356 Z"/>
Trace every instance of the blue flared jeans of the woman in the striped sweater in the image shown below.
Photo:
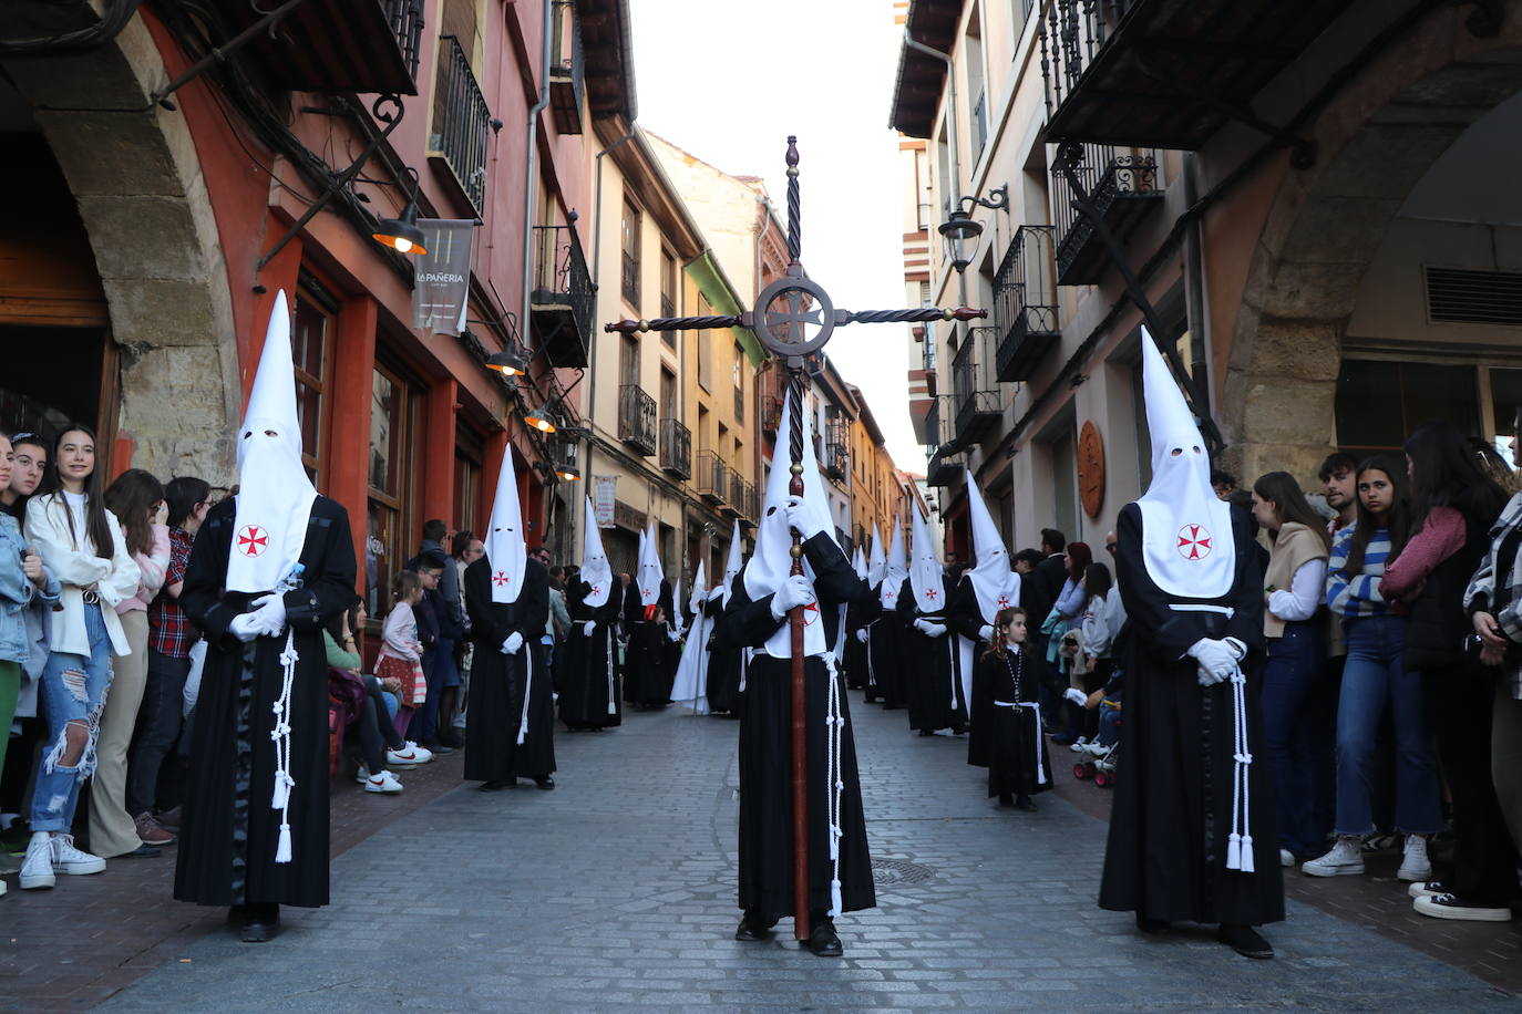
<path fill-rule="evenodd" d="M 1370 616 L 1347 623 L 1347 663 L 1336 716 L 1336 832 L 1374 830 L 1374 742 L 1390 708 L 1396 736 L 1396 830 L 1441 830 L 1437 762 L 1422 696 L 1422 677 L 1406 672 L 1400 652 L 1406 622 Z"/>

